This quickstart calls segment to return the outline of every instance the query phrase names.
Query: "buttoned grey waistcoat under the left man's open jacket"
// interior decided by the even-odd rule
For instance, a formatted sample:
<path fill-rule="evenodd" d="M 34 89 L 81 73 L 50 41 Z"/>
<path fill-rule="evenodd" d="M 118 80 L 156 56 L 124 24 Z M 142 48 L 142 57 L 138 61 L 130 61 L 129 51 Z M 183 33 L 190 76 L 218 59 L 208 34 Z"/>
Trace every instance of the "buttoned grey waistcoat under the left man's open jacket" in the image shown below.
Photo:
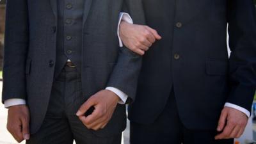
<path fill-rule="evenodd" d="M 55 77 L 67 60 L 81 70 L 84 0 L 58 0 L 58 27 Z"/>

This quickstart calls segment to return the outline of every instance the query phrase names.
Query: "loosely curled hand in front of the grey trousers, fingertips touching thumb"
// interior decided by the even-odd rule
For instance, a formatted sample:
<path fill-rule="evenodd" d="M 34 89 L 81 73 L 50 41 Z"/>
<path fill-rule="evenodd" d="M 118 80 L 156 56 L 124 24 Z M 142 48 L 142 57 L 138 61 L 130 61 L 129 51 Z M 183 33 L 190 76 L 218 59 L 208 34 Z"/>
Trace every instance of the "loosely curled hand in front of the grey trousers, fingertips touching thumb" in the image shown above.
<path fill-rule="evenodd" d="M 77 116 L 88 129 L 97 131 L 103 129 L 111 119 L 116 105 L 120 98 L 109 90 L 102 90 L 95 95 L 92 95 L 81 108 L 77 111 Z M 84 113 L 94 106 L 94 111 L 91 115 L 85 116 Z"/>

